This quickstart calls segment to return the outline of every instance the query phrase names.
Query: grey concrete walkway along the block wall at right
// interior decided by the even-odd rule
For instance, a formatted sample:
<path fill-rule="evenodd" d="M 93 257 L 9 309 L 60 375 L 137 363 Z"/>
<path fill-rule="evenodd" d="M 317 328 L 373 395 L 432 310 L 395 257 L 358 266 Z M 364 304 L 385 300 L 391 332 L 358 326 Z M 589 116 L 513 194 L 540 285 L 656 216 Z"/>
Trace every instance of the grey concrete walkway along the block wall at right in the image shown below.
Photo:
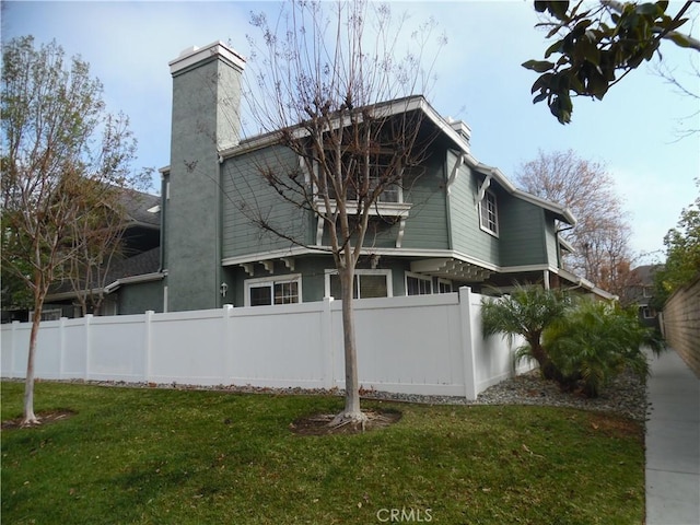
<path fill-rule="evenodd" d="M 673 350 L 646 383 L 646 524 L 700 525 L 700 380 Z"/>

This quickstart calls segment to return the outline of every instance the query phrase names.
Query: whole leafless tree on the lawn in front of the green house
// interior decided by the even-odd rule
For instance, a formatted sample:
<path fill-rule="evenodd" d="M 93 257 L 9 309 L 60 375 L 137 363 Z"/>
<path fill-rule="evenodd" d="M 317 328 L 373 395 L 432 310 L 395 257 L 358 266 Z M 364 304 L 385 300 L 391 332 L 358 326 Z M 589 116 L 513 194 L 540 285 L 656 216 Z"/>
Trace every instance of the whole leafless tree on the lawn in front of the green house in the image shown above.
<path fill-rule="evenodd" d="M 397 203 L 430 142 L 420 109 L 425 101 L 416 94 L 431 82 L 432 65 L 425 70 L 421 63 L 434 24 L 413 33 L 418 51 L 401 56 L 405 21 L 394 19 L 387 5 L 365 1 L 289 2 L 276 21 L 264 14 L 253 19 L 262 39 L 259 46 L 252 39 L 258 70 L 247 94 L 250 115 L 299 159 L 289 168 L 261 165 L 259 173 L 283 201 L 320 220 L 327 241 L 314 249 L 332 254 L 340 281 L 346 406 L 336 425 L 366 420 L 352 298 L 368 231 L 387 219 L 383 206 Z M 261 230 L 310 244 L 249 202 L 244 207 Z"/>

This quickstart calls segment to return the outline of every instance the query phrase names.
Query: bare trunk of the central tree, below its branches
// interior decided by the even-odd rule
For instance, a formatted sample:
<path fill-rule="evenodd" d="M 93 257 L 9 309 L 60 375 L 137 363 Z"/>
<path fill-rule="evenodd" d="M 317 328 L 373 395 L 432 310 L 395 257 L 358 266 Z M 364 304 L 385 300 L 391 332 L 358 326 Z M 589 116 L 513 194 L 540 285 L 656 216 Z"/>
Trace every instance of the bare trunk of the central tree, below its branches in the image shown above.
<path fill-rule="evenodd" d="M 358 380 L 358 348 L 354 337 L 354 308 L 352 305 L 352 289 L 354 283 L 354 268 L 347 267 L 338 270 L 342 290 L 342 331 L 346 363 L 346 408 L 330 423 L 363 424 L 366 416 L 360 409 L 360 385 Z"/>

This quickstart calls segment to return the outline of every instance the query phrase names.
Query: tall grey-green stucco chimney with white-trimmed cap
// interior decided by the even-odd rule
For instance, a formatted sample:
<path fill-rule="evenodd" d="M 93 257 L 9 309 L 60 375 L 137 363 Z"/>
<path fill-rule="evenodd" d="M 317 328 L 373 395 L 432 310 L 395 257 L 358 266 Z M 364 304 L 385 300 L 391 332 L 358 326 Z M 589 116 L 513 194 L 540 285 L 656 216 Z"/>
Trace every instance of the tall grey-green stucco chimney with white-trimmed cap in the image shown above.
<path fill-rule="evenodd" d="M 164 199 L 167 311 L 220 306 L 219 151 L 241 137 L 245 60 L 222 42 L 168 62 L 173 77 L 171 163 Z"/>

